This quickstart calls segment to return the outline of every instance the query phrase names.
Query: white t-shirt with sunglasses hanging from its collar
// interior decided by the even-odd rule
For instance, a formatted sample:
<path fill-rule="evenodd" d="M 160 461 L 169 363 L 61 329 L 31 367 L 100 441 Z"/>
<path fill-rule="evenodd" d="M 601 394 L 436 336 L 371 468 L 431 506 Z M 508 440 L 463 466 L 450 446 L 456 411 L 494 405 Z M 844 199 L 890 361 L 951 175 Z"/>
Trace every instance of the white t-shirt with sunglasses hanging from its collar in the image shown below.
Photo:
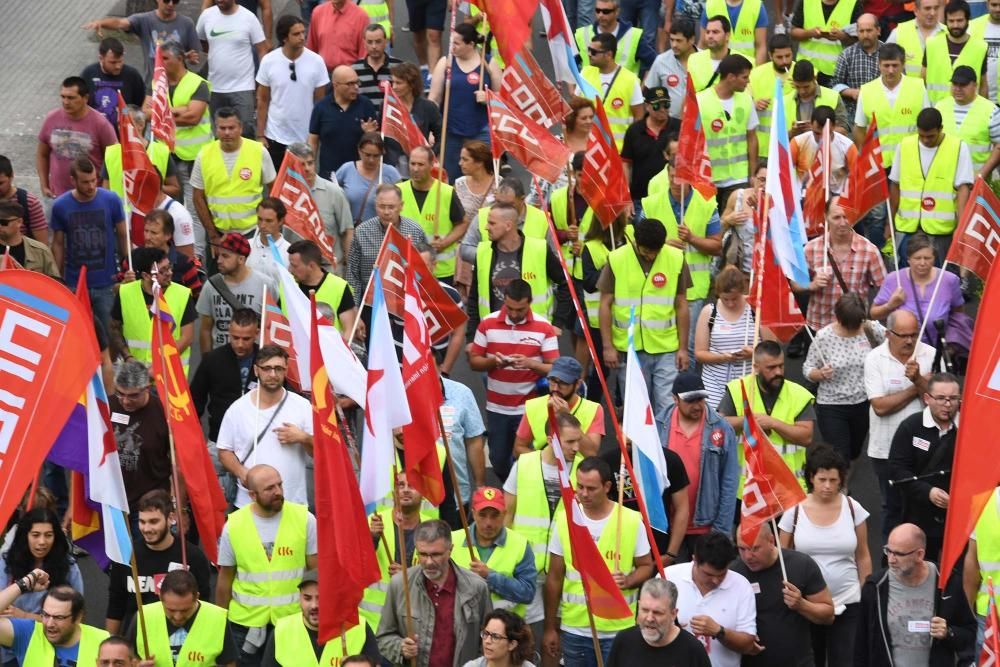
<path fill-rule="evenodd" d="M 295 63 L 295 81 L 291 77 L 292 63 Z M 330 84 L 323 58 L 305 49 L 298 58 L 290 60 L 281 49 L 275 49 L 261 59 L 257 83 L 271 89 L 265 136 L 285 145 L 308 139 L 313 94 L 317 88 Z"/>

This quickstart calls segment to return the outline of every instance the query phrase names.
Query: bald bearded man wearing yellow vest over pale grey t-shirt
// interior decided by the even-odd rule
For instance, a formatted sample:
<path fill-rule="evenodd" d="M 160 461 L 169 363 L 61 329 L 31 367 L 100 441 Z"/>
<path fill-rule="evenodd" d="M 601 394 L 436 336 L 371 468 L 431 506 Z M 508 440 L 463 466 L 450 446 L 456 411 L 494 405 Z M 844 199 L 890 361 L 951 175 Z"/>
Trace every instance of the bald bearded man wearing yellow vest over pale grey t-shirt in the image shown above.
<path fill-rule="evenodd" d="M 296 591 L 318 560 L 316 517 L 305 505 L 285 502 L 280 473 L 262 464 L 245 478 L 253 502 L 230 514 L 222 529 L 215 588 L 244 666 L 260 665 L 275 622 L 299 611 Z"/>

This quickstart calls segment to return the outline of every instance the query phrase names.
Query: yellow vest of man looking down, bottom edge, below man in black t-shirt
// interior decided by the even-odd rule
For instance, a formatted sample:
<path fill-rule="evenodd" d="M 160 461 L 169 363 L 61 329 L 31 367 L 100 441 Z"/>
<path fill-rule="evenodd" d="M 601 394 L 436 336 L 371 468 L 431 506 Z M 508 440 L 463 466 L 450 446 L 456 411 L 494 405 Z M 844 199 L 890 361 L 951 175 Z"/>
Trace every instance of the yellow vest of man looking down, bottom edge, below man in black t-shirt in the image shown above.
<path fill-rule="evenodd" d="M 195 616 L 194 624 L 181 645 L 176 665 L 171 659 L 170 637 L 167 636 L 167 617 L 163 611 L 163 603 L 142 605 L 148 628 L 149 650 L 146 650 L 146 642 L 143 641 L 143 633 L 140 632 L 136 636 L 139 653 L 155 655 L 156 667 L 214 665 L 215 659 L 222 653 L 227 613 L 222 607 L 216 607 L 205 601 L 198 604 L 198 615 Z"/>

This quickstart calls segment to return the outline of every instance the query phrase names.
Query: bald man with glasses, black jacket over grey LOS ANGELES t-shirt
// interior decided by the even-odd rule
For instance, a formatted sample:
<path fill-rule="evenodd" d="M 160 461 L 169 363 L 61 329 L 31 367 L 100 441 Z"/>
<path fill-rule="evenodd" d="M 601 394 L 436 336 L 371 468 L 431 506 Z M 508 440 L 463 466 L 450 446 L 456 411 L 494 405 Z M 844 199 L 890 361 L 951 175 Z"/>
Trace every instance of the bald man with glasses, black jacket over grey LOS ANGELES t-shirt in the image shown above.
<path fill-rule="evenodd" d="M 855 667 L 968 665 L 975 661 L 976 618 L 952 574 L 938 590 L 937 566 L 924 560 L 927 537 L 912 523 L 889 533 L 889 567 L 861 589 Z M 956 663 L 957 661 L 957 663 Z"/>

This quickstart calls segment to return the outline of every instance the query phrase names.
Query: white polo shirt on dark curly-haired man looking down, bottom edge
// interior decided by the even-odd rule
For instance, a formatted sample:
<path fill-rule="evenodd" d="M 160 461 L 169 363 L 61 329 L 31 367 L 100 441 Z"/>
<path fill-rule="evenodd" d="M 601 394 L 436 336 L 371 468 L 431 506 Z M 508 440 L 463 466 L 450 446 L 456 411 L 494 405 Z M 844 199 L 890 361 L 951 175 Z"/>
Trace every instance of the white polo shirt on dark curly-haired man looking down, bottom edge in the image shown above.
<path fill-rule="evenodd" d="M 742 574 L 728 570 L 715 590 L 702 596 L 691 578 L 694 563 L 678 563 L 664 570 L 668 581 L 677 586 L 677 622 L 688 629 L 692 616 L 709 616 L 726 630 L 757 634 L 757 602 L 753 588 Z M 690 630 L 689 630 L 690 631 Z M 739 667 L 740 654 L 705 635 L 695 637 L 705 647 L 712 667 Z"/>

